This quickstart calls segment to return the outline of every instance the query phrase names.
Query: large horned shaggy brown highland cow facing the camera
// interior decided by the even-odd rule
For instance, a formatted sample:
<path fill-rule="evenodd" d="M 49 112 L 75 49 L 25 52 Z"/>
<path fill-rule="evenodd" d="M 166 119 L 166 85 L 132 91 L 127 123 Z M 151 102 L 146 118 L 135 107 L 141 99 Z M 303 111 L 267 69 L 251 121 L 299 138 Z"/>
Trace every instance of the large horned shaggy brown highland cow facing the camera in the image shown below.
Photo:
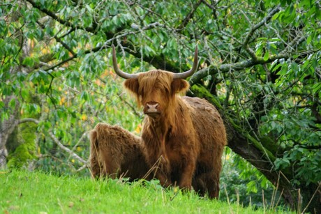
<path fill-rule="evenodd" d="M 138 105 L 144 108 L 142 142 L 149 167 L 163 158 L 156 178 L 165 187 L 193 188 L 209 197 L 218 197 L 221 156 L 226 144 L 225 126 L 216 108 L 200 98 L 181 97 L 188 90 L 184 78 L 197 69 L 197 48 L 193 68 L 174 74 L 150 70 L 130 75 L 120 70 L 114 46 L 113 65 L 126 79 Z"/>

